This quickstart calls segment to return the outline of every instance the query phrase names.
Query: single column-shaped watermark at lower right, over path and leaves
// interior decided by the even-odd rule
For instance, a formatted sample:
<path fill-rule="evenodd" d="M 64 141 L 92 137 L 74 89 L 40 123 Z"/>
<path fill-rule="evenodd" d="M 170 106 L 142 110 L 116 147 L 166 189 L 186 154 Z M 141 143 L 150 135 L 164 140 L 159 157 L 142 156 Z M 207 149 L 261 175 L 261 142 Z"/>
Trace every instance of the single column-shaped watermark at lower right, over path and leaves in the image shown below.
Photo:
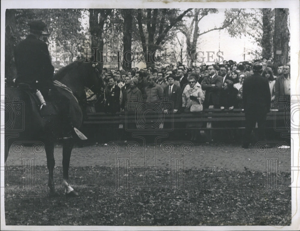
<path fill-rule="evenodd" d="M 271 153 L 269 146 L 275 146 L 275 152 Z M 280 154 L 285 154 L 290 146 L 283 141 L 262 141 L 255 145 L 255 150 L 265 156 L 265 185 L 264 191 L 255 193 L 256 197 L 287 197 L 288 194 L 280 191 L 279 171 L 292 170 L 290 166 L 279 166 Z M 293 170 L 297 170 L 295 167 Z M 281 188 L 286 187 L 281 184 Z"/>

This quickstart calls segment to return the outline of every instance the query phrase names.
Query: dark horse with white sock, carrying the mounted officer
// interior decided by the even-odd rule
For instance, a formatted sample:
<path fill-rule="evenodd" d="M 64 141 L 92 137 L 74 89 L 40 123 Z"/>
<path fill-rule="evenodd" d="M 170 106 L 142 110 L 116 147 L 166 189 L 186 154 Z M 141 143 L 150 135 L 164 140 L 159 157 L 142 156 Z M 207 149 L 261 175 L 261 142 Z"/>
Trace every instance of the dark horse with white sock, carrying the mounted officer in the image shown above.
<path fill-rule="evenodd" d="M 57 74 L 54 75 L 54 80 L 66 85 L 72 92 L 61 88 L 57 88 L 63 91 L 64 94 L 70 99 L 70 110 L 71 110 L 71 122 L 76 128 L 79 128 L 82 124 L 82 112 L 84 104 L 86 103 L 85 87 L 90 88 L 95 94 L 101 97 L 104 93 L 104 81 L 99 74 L 98 63 L 84 62 L 83 60 L 75 61 L 70 63 L 66 67 L 60 69 Z M 27 90 L 28 92 L 28 90 Z M 61 115 L 59 113 L 44 113 L 41 112 L 49 110 L 51 107 L 47 100 L 46 106 L 40 111 L 39 106 L 36 101 L 32 100 L 26 90 L 16 87 L 5 88 L 5 98 L 8 101 L 13 101 L 13 99 L 18 99 L 24 102 L 24 128 L 17 132 L 16 136 L 11 135 L 11 127 L 5 127 L 5 161 L 8 156 L 8 150 L 10 146 L 16 141 L 40 141 L 44 143 L 46 157 L 47 157 L 47 168 L 49 170 L 49 181 L 48 186 L 50 188 L 49 195 L 56 196 L 56 192 L 53 181 L 53 169 L 55 165 L 54 160 L 54 144 L 59 138 L 63 138 L 64 134 L 68 131 L 62 129 L 64 124 L 62 124 Z M 75 97 L 76 99 L 75 99 Z M 6 105 L 6 104 L 5 104 Z M 6 107 L 6 106 L 5 106 Z M 47 108 L 48 107 L 48 108 Z M 51 110 L 50 110 L 51 111 Z M 52 110 L 53 111 L 53 110 Z M 5 115 L 6 117 L 6 115 Z M 15 116 L 14 123 L 18 126 L 22 124 L 22 121 L 18 116 Z M 5 118 L 7 120 L 9 118 Z M 7 123 L 5 123 L 7 124 Z M 78 196 L 78 194 L 73 190 L 73 188 L 67 183 L 68 171 L 70 164 L 70 156 L 73 148 L 74 139 L 78 137 L 63 139 L 63 185 L 65 187 L 65 193 L 68 196 Z"/>

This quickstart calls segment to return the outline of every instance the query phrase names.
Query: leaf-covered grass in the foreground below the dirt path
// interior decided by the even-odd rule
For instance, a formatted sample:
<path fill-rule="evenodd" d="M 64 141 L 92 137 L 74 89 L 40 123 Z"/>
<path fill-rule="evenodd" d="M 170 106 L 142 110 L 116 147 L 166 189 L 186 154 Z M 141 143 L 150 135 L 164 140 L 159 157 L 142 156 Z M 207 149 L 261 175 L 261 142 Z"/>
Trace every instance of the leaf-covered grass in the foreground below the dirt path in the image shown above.
<path fill-rule="evenodd" d="M 265 176 L 259 171 L 224 169 L 185 171 L 185 190 L 193 197 L 162 197 L 168 189 L 133 189 L 139 197 L 107 197 L 116 189 L 115 168 L 72 167 L 70 184 L 79 198 L 47 196 L 48 170 L 36 167 L 36 186 L 45 197 L 13 197 L 19 189 L 5 189 L 6 225 L 276 225 L 291 224 L 291 190 L 280 188 L 287 197 L 255 197 L 264 191 Z M 62 169 L 55 168 L 59 192 Z M 38 176 L 38 177 L 37 177 Z M 281 172 L 279 183 L 290 183 L 290 173 Z M 21 183 L 21 173 L 8 172 L 7 179 Z M 157 174 L 170 186 L 170 173 Z M 131 182 L 141 183 L 143 172 L 133 172 Z"/>

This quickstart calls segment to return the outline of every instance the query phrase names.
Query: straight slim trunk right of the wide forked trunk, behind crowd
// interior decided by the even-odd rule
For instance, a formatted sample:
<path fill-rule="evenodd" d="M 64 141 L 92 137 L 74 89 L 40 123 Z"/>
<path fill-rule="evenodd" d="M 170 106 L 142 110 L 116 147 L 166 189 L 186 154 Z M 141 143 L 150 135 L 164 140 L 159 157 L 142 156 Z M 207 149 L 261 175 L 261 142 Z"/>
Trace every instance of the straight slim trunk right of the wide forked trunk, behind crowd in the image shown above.
<path fill-rule="evenodd" d="M 132 39 L 132 9 L 123 10 L 124 31 L 123 31 L 123 69 L 131 69 L 131 39 Z"/>

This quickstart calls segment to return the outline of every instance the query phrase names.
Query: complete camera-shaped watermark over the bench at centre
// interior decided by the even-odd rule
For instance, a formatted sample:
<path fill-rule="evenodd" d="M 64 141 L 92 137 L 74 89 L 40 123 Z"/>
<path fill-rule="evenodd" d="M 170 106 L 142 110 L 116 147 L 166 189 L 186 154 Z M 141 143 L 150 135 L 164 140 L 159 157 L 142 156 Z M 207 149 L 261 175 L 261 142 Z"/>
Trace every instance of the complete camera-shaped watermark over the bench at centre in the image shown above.
<path fill-rule="evenodd" d="M 164 113 L 164 109 L 168 112 Z M 125 129 L 127 131 L 172 131 L 174 128 L 173 102 L 159 100 L 157 95 L 143 95 L 141 100 L 126 102 Z"/>

